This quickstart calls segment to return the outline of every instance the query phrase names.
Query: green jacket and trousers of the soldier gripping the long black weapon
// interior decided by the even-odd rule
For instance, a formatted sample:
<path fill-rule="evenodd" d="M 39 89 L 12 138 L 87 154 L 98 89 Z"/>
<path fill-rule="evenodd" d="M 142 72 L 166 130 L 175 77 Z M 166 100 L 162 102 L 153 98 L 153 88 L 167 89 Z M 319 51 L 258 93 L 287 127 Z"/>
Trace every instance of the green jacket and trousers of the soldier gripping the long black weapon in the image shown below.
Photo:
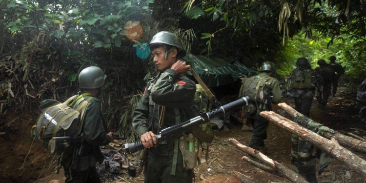
<path fill-rule="evenodd" d="M 139 136 L 159 129 L 162 106 L 165 106 L 161 129 L 194 117 L 192 105 L 196 84 L 186 76 L 177 75 L 172 69 L 147 82 L 144 94 L 136 106 L 133 128 Z M 161 142 L 148 150 L 145 164 L 145 183 L 186 183 L 191 181 L 192 171 L 183 165 L 178 139 Z"/>

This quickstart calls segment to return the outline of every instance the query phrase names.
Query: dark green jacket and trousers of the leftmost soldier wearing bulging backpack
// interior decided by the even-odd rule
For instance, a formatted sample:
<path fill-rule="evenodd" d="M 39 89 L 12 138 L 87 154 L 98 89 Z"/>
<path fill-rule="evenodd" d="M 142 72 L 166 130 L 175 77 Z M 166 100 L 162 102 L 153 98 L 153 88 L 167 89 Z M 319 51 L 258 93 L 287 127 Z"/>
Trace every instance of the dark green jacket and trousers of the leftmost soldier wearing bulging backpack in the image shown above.
<path fill-rule="evenodd" d="M 79 92 L 78 95 L 83 94 Z M 76 109 L 82 100 L 92 97 L 87 95 L 75 103 Z M 85 142 L 74 144 L 67 148 L 62 156 L 61 165 L 64 168 L 66 183 L 100 183 L 101 180 L 95 168 L 97 162 L 102 163 L 104 156 L 99 146 L 108 144 L 111 139 L 105 132 L 106 126 L 102 120 L 101 102 L 92 99 L 85 111 L 82 134 Z M 83 149 L 79 151 L 79 149 Z"/>

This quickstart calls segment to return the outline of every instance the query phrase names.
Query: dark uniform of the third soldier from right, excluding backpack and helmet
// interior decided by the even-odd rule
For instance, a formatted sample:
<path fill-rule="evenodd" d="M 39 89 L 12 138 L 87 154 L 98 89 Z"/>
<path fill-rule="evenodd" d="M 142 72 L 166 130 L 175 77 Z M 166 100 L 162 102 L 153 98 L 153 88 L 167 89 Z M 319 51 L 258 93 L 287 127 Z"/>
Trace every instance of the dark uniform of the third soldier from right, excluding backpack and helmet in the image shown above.
<path fill-rule="evenodd" d="M 320 85 L 323 83 L 323 79 L 315 70 L 311 69 L 309 65 L 300 65 L 290 73 L 290 77 L 293 78 L 295 75 L 294 73 L 296 73 L 297 70 L 310 70 L 311 84 L 313 87 L 306 89 L 290 88 L 286 95 L 289 98 L 295 99 L 295 109 L 297 111 L 309 116 L 311 104 L 315 96 L 315 88 L 320 87 Z"/>

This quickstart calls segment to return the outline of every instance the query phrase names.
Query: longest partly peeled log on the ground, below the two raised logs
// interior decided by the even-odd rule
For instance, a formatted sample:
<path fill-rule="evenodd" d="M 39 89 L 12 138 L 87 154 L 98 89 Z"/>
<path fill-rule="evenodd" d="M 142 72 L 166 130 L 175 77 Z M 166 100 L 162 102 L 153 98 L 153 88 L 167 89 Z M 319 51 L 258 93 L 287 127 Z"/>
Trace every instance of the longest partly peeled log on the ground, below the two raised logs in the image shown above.
<path fill-rule="evenodd" d="M 292 171 L 291 169 L 287 168 L 281 163 L 278 163 L 276 161 L 273 161 L 272 159 L 268 158 L 258 150 L 255 150 L 253 148 L 250 148 L 246 145 L 241 144 L 235 139 L 229 139 L 229 141 L 234 144 L 238 149 L 241 151 L 248 153 L 250 156 L 253 156 L 254 158 L 257 158 L 261 162 L 263 162 L 265 165 L 275 169 L 278 174 L 281 175 L 281 177 L 284 177 L 285 179 L 288 179 L 289 181 L 293 183 L 308 183 L 302 176 L 297 174 L 296 172 Z"/>

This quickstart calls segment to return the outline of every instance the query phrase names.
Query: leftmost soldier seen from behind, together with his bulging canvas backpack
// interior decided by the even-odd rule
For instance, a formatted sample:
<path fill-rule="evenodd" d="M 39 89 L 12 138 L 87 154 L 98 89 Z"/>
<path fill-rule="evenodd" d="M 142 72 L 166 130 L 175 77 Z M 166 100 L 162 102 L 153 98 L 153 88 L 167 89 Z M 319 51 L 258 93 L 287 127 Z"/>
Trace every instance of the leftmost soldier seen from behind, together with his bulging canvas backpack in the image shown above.
<path fill-rule="evenodd" d="M 99 146 L 113 142 L 112 132 L 106 133 L 101 102 L 96 98 L 106 75 L 101 68 L 90 66 L 79 74 L 77 95 L 61 103 L 46 100 L 40 106 L 41 115 L 32 128 L 51 154 L 60 155 L 66 183 L 101 183 L 95 168 L 104 156 Z"/>

